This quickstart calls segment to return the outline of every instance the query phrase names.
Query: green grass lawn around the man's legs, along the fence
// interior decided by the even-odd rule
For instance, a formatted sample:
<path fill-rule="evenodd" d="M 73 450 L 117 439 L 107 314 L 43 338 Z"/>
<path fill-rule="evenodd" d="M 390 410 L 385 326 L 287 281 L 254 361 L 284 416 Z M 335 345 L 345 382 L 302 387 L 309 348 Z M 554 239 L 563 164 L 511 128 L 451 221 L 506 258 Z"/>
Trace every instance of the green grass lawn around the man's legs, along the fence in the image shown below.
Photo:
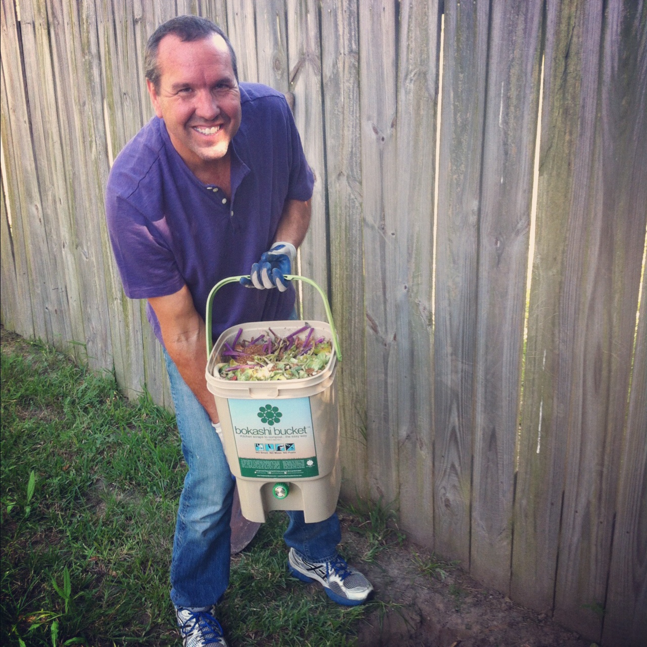
<path fill-rule="evenodd" d="M 50 347 L 1 354 L 0 644 L 179 644 L 169 599 L 184 463 L 171 413 Z M 33 476 L 31 476 L 33 474 Z M 232 561 L 232 646 L 344 647 L 365 607 L 287 573 L 285 515 Z M 21 642 L 22 641 L 22 642 Z"/>

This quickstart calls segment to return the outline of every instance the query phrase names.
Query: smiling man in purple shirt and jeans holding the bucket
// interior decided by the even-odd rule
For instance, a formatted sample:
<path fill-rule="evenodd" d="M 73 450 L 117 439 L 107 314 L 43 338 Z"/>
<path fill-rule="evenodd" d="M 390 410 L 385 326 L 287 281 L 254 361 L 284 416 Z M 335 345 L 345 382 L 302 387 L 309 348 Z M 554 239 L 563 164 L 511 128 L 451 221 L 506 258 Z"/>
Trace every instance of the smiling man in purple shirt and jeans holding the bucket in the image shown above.
<path fill-rule="evenodd" d="M 155 117 L 115 160 L 106 217 L 124 292 L 147 301 L 164 358 L 188 466 L 179 501 L 171 600 L 185 647 L 226 646 L 215 604 L 229 583 L 234 483 L 206 387 L 204 309 L 215 297 L 217 339 L 243 322 L 290 318 L 296 248 L 310 222 L 314 178 L 283 94 L 239 83 L 236 54 L 210 21 L 161 25 L 144 65 Z M 373 587 L 337 553 L 336 514 L 305 523 L 288 512 L 287 565 L 353 606 Z"/>

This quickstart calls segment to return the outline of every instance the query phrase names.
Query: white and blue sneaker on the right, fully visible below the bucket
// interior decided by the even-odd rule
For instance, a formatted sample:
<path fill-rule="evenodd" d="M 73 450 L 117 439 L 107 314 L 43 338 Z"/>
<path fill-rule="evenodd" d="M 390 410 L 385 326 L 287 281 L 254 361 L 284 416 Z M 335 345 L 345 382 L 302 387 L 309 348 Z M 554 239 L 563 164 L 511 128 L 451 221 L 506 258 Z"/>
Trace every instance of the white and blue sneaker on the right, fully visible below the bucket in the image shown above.
<path fill-rule="evenodd" d="M 373 593 L 371 582 L 339 555 L 330 562 L 309 562 L 291 548 L 287 561 L 292 575 L 302 582 L 319 582 L 326 595 L 338 604 L 356 606 Z"/>

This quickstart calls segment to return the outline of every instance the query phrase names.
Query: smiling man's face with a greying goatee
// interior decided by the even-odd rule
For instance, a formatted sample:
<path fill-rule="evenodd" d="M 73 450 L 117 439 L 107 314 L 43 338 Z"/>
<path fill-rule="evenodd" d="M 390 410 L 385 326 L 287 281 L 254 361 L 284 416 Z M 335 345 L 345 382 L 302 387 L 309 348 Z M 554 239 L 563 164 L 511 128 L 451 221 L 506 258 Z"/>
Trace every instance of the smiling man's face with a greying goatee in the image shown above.
<path fill-rule="evenodd" d="M 218 34 L 159 43 L 159 90 L 148 81 L 155 113 L 187 166 L 204 170 L 223 159 L 241 123 L 241 96 L 225 40 Z"/>

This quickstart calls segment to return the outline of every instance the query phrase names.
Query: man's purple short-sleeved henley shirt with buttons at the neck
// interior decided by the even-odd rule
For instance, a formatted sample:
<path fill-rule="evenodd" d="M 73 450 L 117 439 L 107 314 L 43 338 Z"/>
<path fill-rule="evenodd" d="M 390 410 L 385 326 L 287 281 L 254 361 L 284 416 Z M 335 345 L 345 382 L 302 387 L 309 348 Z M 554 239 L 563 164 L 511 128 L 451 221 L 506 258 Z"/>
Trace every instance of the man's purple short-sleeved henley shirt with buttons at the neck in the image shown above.
<path fill-rule="evenodd" d="M 313 173 L 283 94 L 258 83 L 241 83 L 240 91 L 231 201 L 193 175 L 157 117 L 116 158 L 105 213 L 127 297 L 166 296 L 186 283 L 204 318 L 215 283 L 248 274 L 270 248 L 285 201 L 312 196 Z M 293 307 L 292 287 L 281 293 L 226 285 L 214 299 L 214 340 L 237 323 L 287 319 Z M 146 314 L 161 342 L 148 303 Z"/>

